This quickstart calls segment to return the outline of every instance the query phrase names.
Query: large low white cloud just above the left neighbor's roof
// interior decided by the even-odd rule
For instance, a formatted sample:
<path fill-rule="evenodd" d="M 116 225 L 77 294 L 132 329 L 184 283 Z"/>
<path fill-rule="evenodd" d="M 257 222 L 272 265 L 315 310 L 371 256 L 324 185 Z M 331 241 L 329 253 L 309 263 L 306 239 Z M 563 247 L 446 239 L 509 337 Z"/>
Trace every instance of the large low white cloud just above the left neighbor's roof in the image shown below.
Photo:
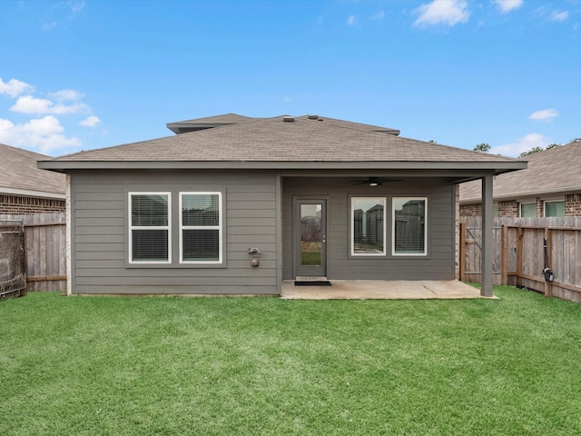
<path fill-rule="evenodd" d="M 78 138 L 67 138 L 63 133 L 64 127 L 52 115 L 24 124 L 13 124 L 10 120 L 0 118 L 0 143 L 32 148 L 44 154 L 81 145 Z"/>

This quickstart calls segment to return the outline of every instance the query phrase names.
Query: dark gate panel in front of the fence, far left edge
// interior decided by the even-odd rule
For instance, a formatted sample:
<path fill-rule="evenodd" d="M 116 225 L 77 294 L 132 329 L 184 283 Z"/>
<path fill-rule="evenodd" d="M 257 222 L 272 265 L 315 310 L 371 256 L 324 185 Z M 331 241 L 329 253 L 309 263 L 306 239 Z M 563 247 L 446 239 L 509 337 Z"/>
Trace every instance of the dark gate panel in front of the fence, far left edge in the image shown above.
<path fill-rule="evenodd" d="M 25 226 L 20 221 L 0 221 L 0 299 L 25 291 Z"/>

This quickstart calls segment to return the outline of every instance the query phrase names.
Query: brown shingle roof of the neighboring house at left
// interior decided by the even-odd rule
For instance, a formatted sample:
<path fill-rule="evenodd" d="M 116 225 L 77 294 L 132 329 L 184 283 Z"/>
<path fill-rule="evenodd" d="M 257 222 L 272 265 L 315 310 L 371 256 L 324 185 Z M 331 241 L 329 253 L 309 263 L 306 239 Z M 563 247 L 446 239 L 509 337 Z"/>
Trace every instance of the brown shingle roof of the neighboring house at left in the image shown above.
<path fill-rule="evenodd" d="M 64 199 L 66 176 L 38 169 L 50 156 L 0 144 L 0 193 Z"/>

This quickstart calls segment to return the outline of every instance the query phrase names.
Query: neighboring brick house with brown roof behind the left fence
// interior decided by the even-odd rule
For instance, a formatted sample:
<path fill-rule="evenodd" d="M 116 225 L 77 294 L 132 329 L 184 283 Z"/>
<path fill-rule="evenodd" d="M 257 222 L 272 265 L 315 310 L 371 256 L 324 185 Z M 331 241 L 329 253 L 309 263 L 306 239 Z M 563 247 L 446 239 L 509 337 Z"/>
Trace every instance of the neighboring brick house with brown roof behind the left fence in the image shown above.
<path fill-rule="evenodd" d="M 0 144 L 0 213 L 54 213 L 65 208 L 66 176 L 38 169 L 49 156 Z"/>

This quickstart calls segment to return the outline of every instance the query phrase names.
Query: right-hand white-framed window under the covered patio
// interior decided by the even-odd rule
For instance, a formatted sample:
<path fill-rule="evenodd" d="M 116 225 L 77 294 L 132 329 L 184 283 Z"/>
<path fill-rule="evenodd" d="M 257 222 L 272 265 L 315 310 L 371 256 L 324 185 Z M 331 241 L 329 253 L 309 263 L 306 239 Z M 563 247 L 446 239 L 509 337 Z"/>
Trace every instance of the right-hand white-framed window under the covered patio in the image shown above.
<path fill-rule="evenodd" d="M 392 231 L 394 255 L 426 255 L 426 197 L 394 197 Z"/>

